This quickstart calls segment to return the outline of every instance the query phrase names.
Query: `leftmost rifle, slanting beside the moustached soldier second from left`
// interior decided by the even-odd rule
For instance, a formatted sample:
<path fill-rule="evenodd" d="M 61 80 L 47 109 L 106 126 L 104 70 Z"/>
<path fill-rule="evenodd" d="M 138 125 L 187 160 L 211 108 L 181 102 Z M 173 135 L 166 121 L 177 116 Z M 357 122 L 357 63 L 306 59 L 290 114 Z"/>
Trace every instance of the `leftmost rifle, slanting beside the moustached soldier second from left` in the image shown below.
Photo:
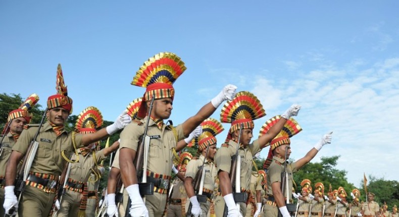
<path fill-rule="evenodd" d="M 33 140 L 30 142 L 28 149 L 26 150 L 26 154 L 24 156 L 24 161 L 22 162 L 22 167 L 18 172 L 18 178 L 17 178 L 16 184 L 15 184 L 15 189 L 14 189 L 15 196 L 17 196 L 17 198 L 18 198 L 18 203 L 21 200 L 22 193 L 24 192 L 26 180 L 28 179 L 29 171 L 32 166 L 33 159 L 36 155 L 37 147 L 39 146 L 39 143 L 36 141 L 36 139 L 37 139 L 37 136 L 39 135 L 41 126 L 43 126 L 43 122 L 46 117 L 46 113 L 47 113 L 47 108 L 44 110 L 43 116 L 41 117 L 41 120 L 40 120 L 39 128 L 37 129 L 36 134 L 33 137 Z M 13 212 L 15 212 L 15 210 L 16 210 L 16 207 L 12 207 L 9 210 L 9 213 L 13 213 Z M 16 213 L 15 213 L 15 215 L 16 215 Z M 5 216 L 8 217 L 8 216 L 15 216 L 15 215 L 12 215 L 12 214 L 10 215 L 10 214 L 6 213 Z"/>

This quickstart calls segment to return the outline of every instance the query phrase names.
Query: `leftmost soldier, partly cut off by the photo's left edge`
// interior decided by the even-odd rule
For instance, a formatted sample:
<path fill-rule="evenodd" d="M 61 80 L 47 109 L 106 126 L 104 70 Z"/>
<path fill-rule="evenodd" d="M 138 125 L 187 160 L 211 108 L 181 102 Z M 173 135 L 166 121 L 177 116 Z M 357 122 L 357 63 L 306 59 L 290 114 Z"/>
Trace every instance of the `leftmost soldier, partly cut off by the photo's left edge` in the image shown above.
<path fill-rule="evenodd" d="M 0 204 L 4 203 L 4 187 L 6 186 L 4 175 L 6 174 L 7 160 L 11 155 L 11 149 L 17 142 L 25 125 L 29 124 L 32 118 L 32 114 L 29 113 L 29 110 L 37 101 L 39 101 L 38 95 L 30 95 L 18 109 L 11 111 L 7 117 L 7 123 L 2 133 L 3 135 L 0 138 Z M 4 214 L 5 210 L 2 205 L 0 207 L 0 216 L 4 216 Z"/>

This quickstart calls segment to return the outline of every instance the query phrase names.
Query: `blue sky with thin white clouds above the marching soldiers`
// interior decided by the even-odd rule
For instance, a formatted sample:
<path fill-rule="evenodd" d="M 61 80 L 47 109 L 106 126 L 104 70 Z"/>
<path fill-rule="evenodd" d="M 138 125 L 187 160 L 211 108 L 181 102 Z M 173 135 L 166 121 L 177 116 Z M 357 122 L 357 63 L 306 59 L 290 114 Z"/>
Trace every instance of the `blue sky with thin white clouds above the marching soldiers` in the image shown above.
<path fill-rule="evenodd" d="M 303 106 L 292 158 L 332 130 L 332 144 L 314 161 L 341 155 L 337 168 L 357 186 L 363 173 L 399 180 L 391 167 L 399 165 L 397 8 L 397 1 L 2 1 L 0 92 L 37 93 L 44 105 L 61 63 L 74 114 L 92 105 L 113 121 L 144 92 L 130 85 L 137 69 L 170 51 L 187 66 L 174 84 L 175 124 L 231 83 L 265 107 L 256 135 L 292 103 Z"/>

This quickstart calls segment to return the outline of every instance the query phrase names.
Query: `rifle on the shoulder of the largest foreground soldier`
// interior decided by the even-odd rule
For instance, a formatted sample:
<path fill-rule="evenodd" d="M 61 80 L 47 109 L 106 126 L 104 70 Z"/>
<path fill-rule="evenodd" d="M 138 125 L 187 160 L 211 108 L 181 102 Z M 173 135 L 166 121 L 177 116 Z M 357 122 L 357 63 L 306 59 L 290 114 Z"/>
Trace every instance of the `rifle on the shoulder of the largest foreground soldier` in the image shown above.
<path fill-rule="evenodd" d="M 137 147 L 136 157 L 134 158 L 133 161 L 133 164 L 136 168 L 137 181 L 139 182 L 139 180 L 141 180 L 141 183 L 140 182 L 138 183 L 138 188 L 141 197 L 143 197 L 144 204 L 145 204 L 145 195 L 154 194 L 154 183 L 152 182 L 147 183 L 147 159 L 148 159 L 149 139 L 150 139 L 149 136 L 147 135 L 147 130 L 148 130 L 149 119 L 151 117 L 151 111 L 153 111 L 154 99 L 155 97 L 151 99 L 151 103 L 149 104 L 148 116 L 144 127 L 144 133 L 141 136 L 141 142 Z M 129 213 L 130 206 L 131 206 L 131 200 L 129 197 L 126 206 L 125 217 L 130 217 Z"/>

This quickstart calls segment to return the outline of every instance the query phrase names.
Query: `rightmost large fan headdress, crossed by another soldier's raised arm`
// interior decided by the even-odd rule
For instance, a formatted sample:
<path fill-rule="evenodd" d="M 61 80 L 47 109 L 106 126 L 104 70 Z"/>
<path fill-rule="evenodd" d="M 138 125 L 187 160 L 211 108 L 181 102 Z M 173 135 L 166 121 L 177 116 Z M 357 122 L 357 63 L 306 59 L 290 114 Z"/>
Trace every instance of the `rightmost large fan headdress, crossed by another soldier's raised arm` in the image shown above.
<path fill-rule="evenodd" d="M 270 128 L 272 128 L 277 122 L 280 120 L 281 116 L 274 116 L 273 118 L 269 119 L 265 124 L 263 124 L 261 130 L 259 131 L 259 137 L 266 134 Z M 284 127 L 281 129 L 280 133 L 277 134 L 276 137 L 270 142 L 270 149 L 268 156 L 263 164 L 263 169 L 269 169 L 269 166 L 273 159 L 273 150 L 281 145 L 289 145 L 291 143 L 290 137 L 296 135 L 297 133 L 301 132 L 302 128 L 295 121 L 295 119 L 290 118 L 285 122 Z"/>

